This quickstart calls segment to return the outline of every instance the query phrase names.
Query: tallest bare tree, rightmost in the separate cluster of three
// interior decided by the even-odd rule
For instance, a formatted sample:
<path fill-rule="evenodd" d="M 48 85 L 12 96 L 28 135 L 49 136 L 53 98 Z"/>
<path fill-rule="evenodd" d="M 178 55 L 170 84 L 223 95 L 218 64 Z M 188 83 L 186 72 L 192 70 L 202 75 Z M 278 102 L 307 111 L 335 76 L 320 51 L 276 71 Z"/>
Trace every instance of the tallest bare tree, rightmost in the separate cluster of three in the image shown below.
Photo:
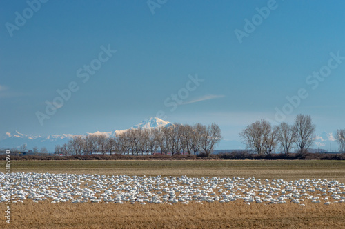
<path fill-rule="evenodd" d="M 315 125 L 311 120 L 311 116 L 301 114 L 297 115 L 293 130 L 295 132 L 295 143 L 299 148 L 299 152 L 308 150 L 315 140 Z"/>

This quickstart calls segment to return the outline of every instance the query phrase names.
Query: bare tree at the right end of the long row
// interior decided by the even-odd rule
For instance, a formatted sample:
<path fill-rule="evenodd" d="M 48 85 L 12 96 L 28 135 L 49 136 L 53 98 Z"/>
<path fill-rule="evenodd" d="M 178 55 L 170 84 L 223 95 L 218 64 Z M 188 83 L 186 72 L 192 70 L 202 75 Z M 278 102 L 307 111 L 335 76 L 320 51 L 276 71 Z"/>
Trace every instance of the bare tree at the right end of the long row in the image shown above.
<path fill-rule="evenodd" d="M 206 155 L 209 156 L 213 152 L 215 145 L 221 141 L 221 130 L 215 123 L 203 129 L 204 132 L 201 135 L 201 148 L 206 152 Z"/>

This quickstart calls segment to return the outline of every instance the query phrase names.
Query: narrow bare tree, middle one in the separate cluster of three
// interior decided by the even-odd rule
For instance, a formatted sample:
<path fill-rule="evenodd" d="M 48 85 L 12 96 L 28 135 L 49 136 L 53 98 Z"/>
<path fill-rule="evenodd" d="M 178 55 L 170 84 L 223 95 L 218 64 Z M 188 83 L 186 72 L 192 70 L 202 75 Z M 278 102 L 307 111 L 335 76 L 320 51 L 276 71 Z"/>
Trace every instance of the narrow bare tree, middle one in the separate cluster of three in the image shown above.
<path fill-rule="evenodd" d="M 293 126 L 288 123 L 280 123 L 278 126 L 278 141 L 284 153 L 290 152 L 295 143 L 295 133 L 293 132 Z"/>

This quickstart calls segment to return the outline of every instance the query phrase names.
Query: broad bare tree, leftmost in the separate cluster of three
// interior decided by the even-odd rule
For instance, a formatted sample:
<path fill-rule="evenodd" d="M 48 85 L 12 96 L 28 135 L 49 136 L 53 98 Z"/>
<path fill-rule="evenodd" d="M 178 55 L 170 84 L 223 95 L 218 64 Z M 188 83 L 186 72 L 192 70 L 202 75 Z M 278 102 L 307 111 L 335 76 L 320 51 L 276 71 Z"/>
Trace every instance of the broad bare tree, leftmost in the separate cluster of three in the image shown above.
<path fill-rule="evenodd" d="M 259 155 L 267 153 L 267 139 L 269 139 L 272 127 L 266 120 L 255 121 L 239 133 L 247 148 L 255 150 Z"/>

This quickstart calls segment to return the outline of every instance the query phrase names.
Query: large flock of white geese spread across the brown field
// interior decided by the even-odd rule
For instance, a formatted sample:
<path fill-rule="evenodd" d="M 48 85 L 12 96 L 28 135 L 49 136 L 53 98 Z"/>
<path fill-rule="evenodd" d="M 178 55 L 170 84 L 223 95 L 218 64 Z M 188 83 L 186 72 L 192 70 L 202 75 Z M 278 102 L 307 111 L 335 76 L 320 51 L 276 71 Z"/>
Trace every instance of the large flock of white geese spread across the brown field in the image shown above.
<path fill-rule="evenodd" d="M 10 177 L 10 183 L 6 178 Z M 0 173 L 0 202 L 50 203 L 167 203 L 242 201 L 250 205 L 339 204 L 345 202 L 345 184 L 322 179 L 146 177 L 127 175 Z M 9 195 L 10 194 L 10 195 Z"/>

